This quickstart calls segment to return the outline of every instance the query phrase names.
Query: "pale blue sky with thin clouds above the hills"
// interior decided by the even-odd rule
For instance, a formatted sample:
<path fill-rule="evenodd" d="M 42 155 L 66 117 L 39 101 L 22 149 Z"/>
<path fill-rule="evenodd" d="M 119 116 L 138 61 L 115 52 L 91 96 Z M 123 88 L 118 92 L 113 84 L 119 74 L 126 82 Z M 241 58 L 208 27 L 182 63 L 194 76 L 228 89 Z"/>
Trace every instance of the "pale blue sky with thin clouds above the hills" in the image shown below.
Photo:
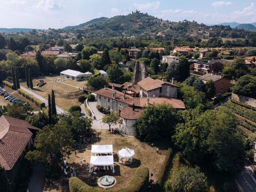
<path fill-rule="evenodd" d="M 256 22 L 254 0 L 0 0 L 0 28 L 62 28 L 137 9 L 164 20 Z"/>

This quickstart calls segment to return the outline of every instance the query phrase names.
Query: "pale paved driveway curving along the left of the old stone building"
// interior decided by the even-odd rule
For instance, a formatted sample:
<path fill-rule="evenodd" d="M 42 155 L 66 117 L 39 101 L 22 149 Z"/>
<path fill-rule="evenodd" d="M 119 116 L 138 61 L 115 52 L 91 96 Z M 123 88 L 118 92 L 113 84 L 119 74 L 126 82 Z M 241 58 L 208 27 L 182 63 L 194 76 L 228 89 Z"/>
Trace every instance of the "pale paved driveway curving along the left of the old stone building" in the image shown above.
<path fill-rule="evenodd" d="M 105 123 L 102 122 L 102 117 L 104 116 L 104 114 L 99 112 L 98 109 L 96 108 L 97 101 L 95 100 L 95 101 L 92 101 L 92 102 L 88 102 L 88 104 L 89 104 L 89 107 L 92 110 L 92 112 L 94 113 L 95 118 L 96 118 L 92 121 L 92 128 L 108 130 L 109 129 L 108 124 L 105 124 Z M 112 126 L 110 126 L 110 128 L 119 128 L 119 125 L 120 124 L 112 125 Z"/>

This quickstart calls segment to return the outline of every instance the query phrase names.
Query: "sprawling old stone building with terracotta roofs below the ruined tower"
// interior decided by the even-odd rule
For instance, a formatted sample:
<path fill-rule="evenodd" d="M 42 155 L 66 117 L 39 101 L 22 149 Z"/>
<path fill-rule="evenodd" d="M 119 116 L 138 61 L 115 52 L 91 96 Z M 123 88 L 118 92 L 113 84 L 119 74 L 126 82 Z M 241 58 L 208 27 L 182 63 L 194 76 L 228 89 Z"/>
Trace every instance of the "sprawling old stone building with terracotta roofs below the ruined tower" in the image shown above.
<path fill-rule="evenodd" d="M 131 88 L 140 93 L 140 97 L 132 97 L 115 89 Z M 136 88 L 135 88 L 136 87 Z M 129 91 L 128 91 L 129 90 Z M 135 91 L 135 90 L 134 90 Z M 170 104 L 178 110 L 185 109 L 182 100 L 177 99 L 178 86 L 162 80 L 154 80 L 150 77 L 138 82 L 138 84 L 112 84 L 111 88 L 103 88 L 94 92 L 97 94 L 97 104 L 107 108 L 111 112 L 118 112 L 122 118 L 122 131 L 124 134 L 135 136 L 134 124 L 139 118 L 142 109 L 148 105 Z"/>

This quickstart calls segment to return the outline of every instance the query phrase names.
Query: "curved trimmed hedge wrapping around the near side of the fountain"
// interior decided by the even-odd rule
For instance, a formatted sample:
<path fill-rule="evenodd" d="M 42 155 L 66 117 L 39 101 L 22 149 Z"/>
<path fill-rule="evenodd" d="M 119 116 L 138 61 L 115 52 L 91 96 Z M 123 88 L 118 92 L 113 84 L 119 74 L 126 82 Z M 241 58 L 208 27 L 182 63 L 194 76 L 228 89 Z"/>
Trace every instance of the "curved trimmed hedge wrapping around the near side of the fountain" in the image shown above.
<path fill-rule="evenodd" d="M 108 190 L 108 192 L 145 192 L 148 189 L 149 170 L 147 167 L 138 167 L 130 183 L 120 189 Z M 77 177 L 69 178 L 70 192 L 104 192 L 82 182 Z"/>

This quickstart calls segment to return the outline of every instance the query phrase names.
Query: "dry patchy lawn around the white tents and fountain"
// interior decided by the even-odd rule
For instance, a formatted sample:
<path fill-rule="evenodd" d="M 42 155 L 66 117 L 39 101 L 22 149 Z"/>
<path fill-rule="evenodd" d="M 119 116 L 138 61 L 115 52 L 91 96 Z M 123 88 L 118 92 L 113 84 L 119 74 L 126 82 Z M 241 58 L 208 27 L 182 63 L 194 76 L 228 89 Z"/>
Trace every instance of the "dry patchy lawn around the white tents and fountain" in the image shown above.
<path fill-rule="evenodd" d="M 91 176 L 89 174 L 91 144 L 113 144 L 115 173 L 109 171 L 105 173 L 97 172 L 97 174 L 94 174 L 94 176 Z M 153 173 L 153 179 L 155 182 L 160 179 L 160 170 L 162 166 L 164 166 L 167 148 L 160 147 L 159 154 L 157 154 L 156 147 L 151 147 L 150 145 L 144 142 L 140 142 L 140 140 L 133 137 L 122 136 L 120 134 L 110 134 L 108 130 L 96 130 L 96 136 L 94 136 L 94 141 L 91 144 L 84 145 L 82 146 L 81 150 L 77 150 L 77 157 L 74 155 L 73 151 L 70 155 L 70 158 L 67 160 L 67 162 L 74 166 L 74 168 L 76 169 L 77 177 L 80 178 L 82 181 L 86 182 L 86 184 L 99 188 L 97 185 L 98 178 L 100 176 L 108 174 L 116 178 L 116 184 L 111 189 L 122 188 L 130 182 L 130 179 L 132 178 L 138 166 L 148 167 L 149 172 Z M 165 146 L 167 145 L 168 144 L 165 144 Z M 118 162 L 118 150 L 126 147 L 135 150 L 136 160 L 131 165 L 122 165 Z M 82 166 L 80 166 L 79 163 L 82 157 L 84 157 L 84 160 L 86 161 L 83 162 Z M 68 175 L 70 176 L 70 174 Z M 68 179 L 62 176 L 60 180 L 54 183 L 46 182 L 44 191 L 68 191 Z"/>

